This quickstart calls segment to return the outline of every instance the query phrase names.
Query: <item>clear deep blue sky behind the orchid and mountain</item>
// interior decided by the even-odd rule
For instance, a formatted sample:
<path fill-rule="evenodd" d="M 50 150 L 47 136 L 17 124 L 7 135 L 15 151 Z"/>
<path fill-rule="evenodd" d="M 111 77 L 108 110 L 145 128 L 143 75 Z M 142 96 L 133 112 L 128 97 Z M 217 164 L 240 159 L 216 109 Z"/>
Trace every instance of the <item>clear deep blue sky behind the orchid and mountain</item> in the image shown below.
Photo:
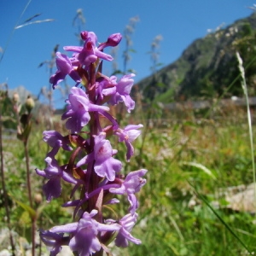
<path fill-rule="evenodd" d="M 114 32 L 124 32 L 130 18 L 139 16 L 132 35 L 136 53 L 131 53 L 128 63 L 128 68 L 137 72 L 137 82 L 150 74 L 148 51 L 157 35 L 163 37 L 159 61 L 166 66 L 177 60 L 196 38 L 206 36 L 207 29 L 214 30 L 222 23 L 227 26 L 251 15 L 253 11 L 247 7 L 256 0 L 32 0 L 20 17 L 27 3 L 27 0 L 0 0 L 0 47 L 6 50 L 0 62 L 0 83 L 7 82 L 10 89 L 23 85 L 38 95 L 43 86 L 49 86 L 49 70 L 46 66 L 38 68 L 39 63 L 50 59 L 55 44 L 60 44 L 61 51 L 63 46 L 78 45 L 74 36 L 78 28 L 72 26 L 77 9 L 83 9 L 84 29 L 96 32 L 99 42 Z M 14 31 L 19 20 L 18 25 L 37 14 L 41 15 L 34 20 L 55 21 Z M 120 69 L 124 47 L 122 41 L 118 51 Z M 111 65 L 103 66 L 103 72 L 110 74 Z M 55 107 L 63 105 L 57 91 L 54 101 Z"/>

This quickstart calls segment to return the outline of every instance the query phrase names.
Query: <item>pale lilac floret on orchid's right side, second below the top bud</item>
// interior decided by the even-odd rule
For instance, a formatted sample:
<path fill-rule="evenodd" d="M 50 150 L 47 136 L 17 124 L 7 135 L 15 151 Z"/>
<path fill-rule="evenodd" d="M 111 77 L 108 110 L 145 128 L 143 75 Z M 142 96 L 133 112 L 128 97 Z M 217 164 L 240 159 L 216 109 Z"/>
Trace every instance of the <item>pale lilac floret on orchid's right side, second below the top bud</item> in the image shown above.
<path fill-rule="evenodd" d="M 134 154 L 134 148 L 132 147 L 131 143 L 140 136 L 141 132 L 140 129 L 143 125 L 127 125 L 124 130 L 118 129 L 114 133 L 119 137 L 119 142 L 125 142 L 127 153 L 126 153 L 126 160 L 129 162 L 131 156 Z"/>

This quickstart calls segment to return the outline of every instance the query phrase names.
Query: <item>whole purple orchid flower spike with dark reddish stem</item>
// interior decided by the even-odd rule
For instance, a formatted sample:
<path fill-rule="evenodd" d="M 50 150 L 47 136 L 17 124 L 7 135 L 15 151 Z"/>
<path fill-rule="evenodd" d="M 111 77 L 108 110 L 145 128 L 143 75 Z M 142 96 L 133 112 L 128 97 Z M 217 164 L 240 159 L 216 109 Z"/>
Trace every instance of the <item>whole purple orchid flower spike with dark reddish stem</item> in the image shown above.
<path fill-rule="evenodd" d="M 40 230 L 50 256 L 60 253 L 63 245 L 69 246 L 74 255 L 90 256 L 102 255 L 103 251 L 109 253 L 108 243 L 112 240 L 118 247 L 127 247 L 129 242 L 141 243 L 131 231 L 138 218 L 136 194 L 146 183 L 143 177 L 147 170 L 125 175 L 123 163 L 117 158 L 118 150 L 112 147 L 108 137 L 117 136 L 119 143 L 125 143 L 126 160 L 130 161 L 135 153 L 132 143 L 141 134 L 143 125 L 121 128 L 119 120 L 106 105 L 123 102 L 128 113 L 135 108 L 130 96 L 135 75 L 131 73 L 118 79 L 102 74 L 102 60 L 113 60 L 103 49 L 118 45 L 122 38 L 119 33 L 110 35 L 99 45 L 94 32 L 81 32 L 80 35 L 84 46 L 64 47 L 73 52 L 72 57 L 56 53 L 57 71 L 49 79 L 54 89 L 67 75 L 76 82 L 61 116 L 66 121 L 67 135 L 44 131 L 44 142 L 50 147 L 45 158 L 47 166 L 44 170 L 36 169 L 39 176 L 46 178 L 43 186 L 46 201 L 61 196 L 65 188 L 62 181 L 73 185 L 70 201 L 62 205 L 74 207 L 73 222 Z M 70 156 L 67 163 L 60 166 L 57 156 L 63 151 L 68 151 Z M 73 198 L 77 189 L 79 199 Z M 126 215 L 113 208 L 110 211 L 114 213 L 113 219 L 109 218 L 109 211 L 106 212 L 104 206 L 111 208 L 121 203 L 114 197 L 116 195 L 125 196 L 130 207 L 124 208 Z"/>

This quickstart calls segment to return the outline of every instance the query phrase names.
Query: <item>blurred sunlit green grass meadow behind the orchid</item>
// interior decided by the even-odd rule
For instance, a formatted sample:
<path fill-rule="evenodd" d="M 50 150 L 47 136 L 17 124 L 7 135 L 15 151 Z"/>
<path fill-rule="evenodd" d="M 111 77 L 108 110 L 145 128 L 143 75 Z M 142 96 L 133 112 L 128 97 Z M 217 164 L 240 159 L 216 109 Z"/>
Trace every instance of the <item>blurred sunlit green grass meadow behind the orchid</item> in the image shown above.
<path fill-rule="evenodd" d="M 136 124 L 143 122 L 138 116 L 135 113 L 132 118 Z M 163 116 L 149 122 L 144 143 L 143 137 L 137 140 L 135 157 L 123 168 L 123 172 L 148 169 L 147 184 L 139 194 L 139 220 L 132 233 L 143 243 L 125 250 L 114 248 L 114 255 L 249 255 L 247 249 L 256 253 L 253 196 L 243 199 L 249 200 L 249 209 L 232 209 L 226 199 L 227 193 L 231 196 L 244 190 L 228 188 L 253 183 L 246 110 L 218 109 L 210 118 L 194 111 L 182 115 L 169 111 Z M 40 216 L 37 227 L 47 229 L 72 221 L 72 211 L 61 208 L 72 188 L 64 186 L 61 198 L 50 204 L 44 197 L 40 201 L 44 179 L 34 169 L 45 167 L 47 146 L 42 131 L 44 124 L 33 125 L 29 154 L 32 193 Z M 116 157 L 125 160 L 125 147 L 117 149 Z M 4 132 L 3 152 L 11 224 L 29 241 L 31 221 L 20 206 L 20 202 L 27 203 L 22 143 Z M 64 163 L 67 155 L 57 158 Z M 0 214 L 3 228 L 3 202 Z"/>

